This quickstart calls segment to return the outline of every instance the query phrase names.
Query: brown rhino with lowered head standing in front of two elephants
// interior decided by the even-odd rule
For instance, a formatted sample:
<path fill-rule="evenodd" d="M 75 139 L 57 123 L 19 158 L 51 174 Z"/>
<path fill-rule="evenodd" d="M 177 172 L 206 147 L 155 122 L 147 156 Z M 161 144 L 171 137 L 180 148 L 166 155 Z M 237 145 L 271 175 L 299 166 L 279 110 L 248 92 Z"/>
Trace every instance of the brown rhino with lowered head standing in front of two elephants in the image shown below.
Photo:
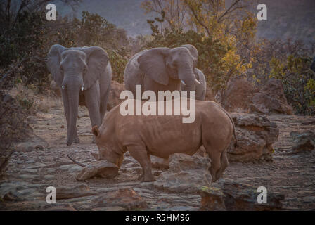
<path fill-rule="evenodd" d="M 127 99 L 127 105 L 144 104 L 145 101 Z M 126 101 L 120 105 L 126 105 Z M 172 112 L 179 110 L 171 100 Z M 164 103 L 167 105 L 167 101 Z M 226 150 L 232 136 L 236 139 L 235 127 L 229 113 L 213 101 L 195 101 L 195 121 L 183 123 L 184 115 L 122 115 L 116 105 L 103 119 L 101 127 L 94 126 L 98 154 L 96 160 L 107 160 L 120 167 L 123 155 L 129 151 L 142 169 L 142 181 L 154 181 L 150 155 L 168 158 L 174 153 L 193 155 L 200 146 L 205 146 L 211 158 L 212 181 L 219 179 L 229 161 Z M 157 104 L 158 107 L 159 104 Z M 158 112 L 158 107 L 156 108 Z M 236 141 L 237 145 L 237 141 Z M 75 162 L 75 161 L 74 161 Z"/>

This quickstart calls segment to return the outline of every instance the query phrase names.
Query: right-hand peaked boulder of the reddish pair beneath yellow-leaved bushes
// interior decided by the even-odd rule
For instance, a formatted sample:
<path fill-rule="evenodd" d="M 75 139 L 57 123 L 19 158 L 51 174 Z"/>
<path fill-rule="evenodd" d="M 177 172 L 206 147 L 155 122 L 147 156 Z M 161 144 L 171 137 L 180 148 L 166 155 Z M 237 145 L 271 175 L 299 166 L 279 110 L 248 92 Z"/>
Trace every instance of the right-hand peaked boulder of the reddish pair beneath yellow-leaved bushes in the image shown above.
<path fill-rule="evenodd" d="M 252 111 L 292 115 L 280 79 L 269 79 L 258 93 L 252 96 Z"/>

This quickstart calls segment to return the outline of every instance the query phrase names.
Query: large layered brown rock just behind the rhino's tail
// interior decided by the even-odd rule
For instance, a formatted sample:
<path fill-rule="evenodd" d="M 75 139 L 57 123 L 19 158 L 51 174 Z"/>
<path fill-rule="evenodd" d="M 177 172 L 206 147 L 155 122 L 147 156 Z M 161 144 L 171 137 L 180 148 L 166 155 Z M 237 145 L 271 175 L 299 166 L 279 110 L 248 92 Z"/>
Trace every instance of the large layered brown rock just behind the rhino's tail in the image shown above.
<path fill-rule="evenodd" d="M 272 144 L 278 140 L 276 123 L 263 115 L 232 115 L 238 146 L 234 139 L 228 149 L 229 161 L 272 160 Z"/>

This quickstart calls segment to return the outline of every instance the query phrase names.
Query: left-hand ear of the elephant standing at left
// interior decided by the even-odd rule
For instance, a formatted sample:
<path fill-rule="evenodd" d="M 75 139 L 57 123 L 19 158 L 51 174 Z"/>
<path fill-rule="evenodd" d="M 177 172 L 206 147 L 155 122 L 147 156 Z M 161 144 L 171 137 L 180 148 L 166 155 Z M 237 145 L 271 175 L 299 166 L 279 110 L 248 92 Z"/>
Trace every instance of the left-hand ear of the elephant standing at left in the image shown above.
<path fill-rule="evenodd" d="M 60 44 L 54 44 L 51 46 L 49 53 L 47 55 L 47 68 L 51 75 L 53 76 L 53 80 L 61 86 L 63 82 L 63 74 L 60 71 L 60 61 L 61 61 L 61 53 L 67 50 L 64 46 Z"/>

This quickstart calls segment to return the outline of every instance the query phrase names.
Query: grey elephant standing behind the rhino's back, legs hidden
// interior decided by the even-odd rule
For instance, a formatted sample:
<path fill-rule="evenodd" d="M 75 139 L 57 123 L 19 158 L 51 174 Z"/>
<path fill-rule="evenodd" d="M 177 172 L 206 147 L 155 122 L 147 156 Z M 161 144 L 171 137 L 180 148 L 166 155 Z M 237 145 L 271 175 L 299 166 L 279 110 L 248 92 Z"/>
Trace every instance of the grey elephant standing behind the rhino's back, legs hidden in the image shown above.
<path fill-rule="evenodd" d="M 136 85 L 141 91 L 175 91 L 185 84 L 186 91 L 195 91 L 195 65 L 198 51 L 192 45 L 174 49 L 154 48 L 136 53 L 124 70 L 124 86 L 136 94 Z M 189 92 L 188 92 L 189 94 Z"/>

